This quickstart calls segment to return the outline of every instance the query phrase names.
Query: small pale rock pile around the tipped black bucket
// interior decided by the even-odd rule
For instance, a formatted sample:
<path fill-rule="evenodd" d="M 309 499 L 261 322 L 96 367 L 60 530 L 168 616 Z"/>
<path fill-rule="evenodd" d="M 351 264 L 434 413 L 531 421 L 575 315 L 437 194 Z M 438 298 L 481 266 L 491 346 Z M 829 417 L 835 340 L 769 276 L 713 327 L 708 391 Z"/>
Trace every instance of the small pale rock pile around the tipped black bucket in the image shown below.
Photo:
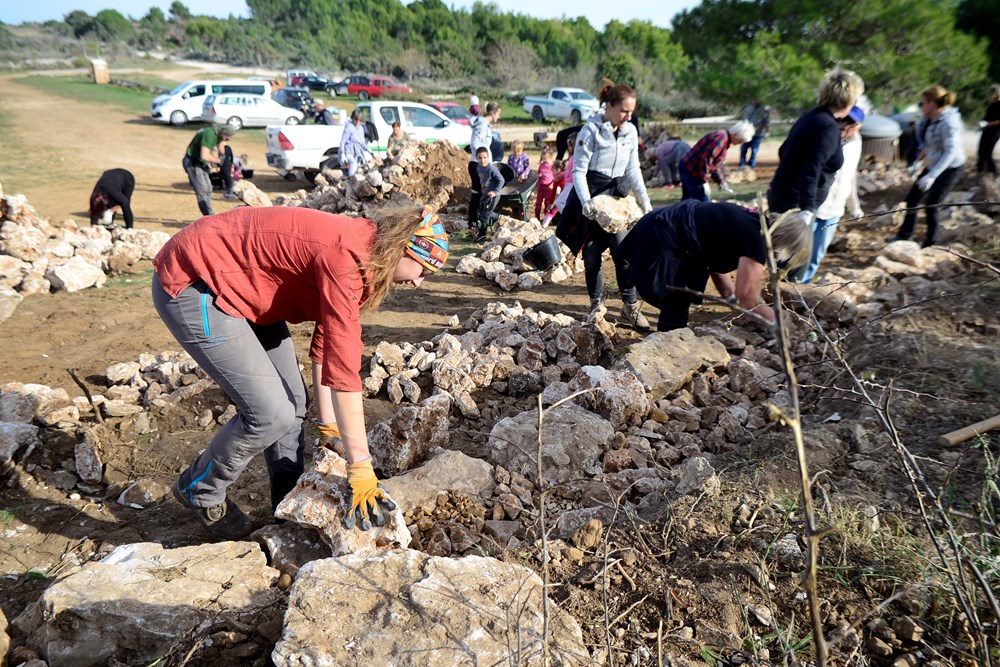
<path fill-rule="evenodd" d="M 538 220 L 517 220 L 500 216 L 493 237 L 483 246 L 479 256 L 466 255 L 459 260 L 458 273 L 481 276 L 492 280 L 508 292 L 532 289 L 545 283 L 561 283 L 574 273 L 583 271 L 583 259 L 570 257 L 569 248 L 559 241 L 562 261 L 546 271 L 539 271 L 524 260 L 524 254 L 535 245 L 555 234 L 555 229 L 542 227 Z"/>

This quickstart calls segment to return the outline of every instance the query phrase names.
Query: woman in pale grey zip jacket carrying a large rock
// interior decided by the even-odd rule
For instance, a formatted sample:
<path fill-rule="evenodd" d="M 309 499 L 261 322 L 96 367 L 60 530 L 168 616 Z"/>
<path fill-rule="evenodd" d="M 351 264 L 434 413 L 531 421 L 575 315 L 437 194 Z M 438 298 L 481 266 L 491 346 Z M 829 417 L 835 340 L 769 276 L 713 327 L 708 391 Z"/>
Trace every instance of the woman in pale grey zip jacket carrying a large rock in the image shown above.
<path fill-rule="evenodd" d="M 639 168 L 639 135 L 629 122 L 635 113 L 636 96 L 631 86 L 605 79 L 598 96 L 604 111 L 587 120 L 576 137 L 573 152 L 573 190 L 556 227 L 556 236 L 576 255 L 583 252 L 584 275 L 591 307 L 601 304 L 604 276 L 601 256 L 614 253 L 627 231 L 611 234 L 593 220 L 597 195 L 624 196 L 635 193 L 643 213 L 652 210 Z M 622 318 L 638 331 L 648 331 L 649 321 L 640 310 L 627 266 L 615 263 Z"/>

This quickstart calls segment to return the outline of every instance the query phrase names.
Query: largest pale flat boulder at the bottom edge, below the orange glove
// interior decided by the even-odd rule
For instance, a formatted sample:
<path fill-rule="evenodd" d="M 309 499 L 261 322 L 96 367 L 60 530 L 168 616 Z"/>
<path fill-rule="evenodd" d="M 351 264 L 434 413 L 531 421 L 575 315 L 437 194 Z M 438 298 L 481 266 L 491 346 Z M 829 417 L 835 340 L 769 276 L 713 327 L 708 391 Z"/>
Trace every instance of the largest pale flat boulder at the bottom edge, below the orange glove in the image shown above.
<path fill-rule="evenodd" d="M 579 625 L 549 604 L 553 665 L 590 664 Z M 542 582 L 492 558 L 401 550 L 314 561 L 291 589 L 277 667 L 538 665 Z"/>

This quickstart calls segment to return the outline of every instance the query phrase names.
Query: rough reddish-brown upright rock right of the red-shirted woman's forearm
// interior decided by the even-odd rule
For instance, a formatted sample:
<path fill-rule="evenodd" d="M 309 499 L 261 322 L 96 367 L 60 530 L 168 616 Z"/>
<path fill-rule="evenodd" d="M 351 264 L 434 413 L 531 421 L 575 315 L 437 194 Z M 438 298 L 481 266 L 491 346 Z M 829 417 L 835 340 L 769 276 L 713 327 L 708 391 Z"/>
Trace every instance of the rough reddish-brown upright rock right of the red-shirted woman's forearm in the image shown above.
<path fill-rule="evenodd" d="M 471 388 L 471 387 L 470 387 Z M 447 445 L 451 399 L 435 394 L 419 405 L 400 408 L 392 419 L 379 422 L 368 434 L 375 468 L 393 477 L 419 465 L 435 447 Z"/>

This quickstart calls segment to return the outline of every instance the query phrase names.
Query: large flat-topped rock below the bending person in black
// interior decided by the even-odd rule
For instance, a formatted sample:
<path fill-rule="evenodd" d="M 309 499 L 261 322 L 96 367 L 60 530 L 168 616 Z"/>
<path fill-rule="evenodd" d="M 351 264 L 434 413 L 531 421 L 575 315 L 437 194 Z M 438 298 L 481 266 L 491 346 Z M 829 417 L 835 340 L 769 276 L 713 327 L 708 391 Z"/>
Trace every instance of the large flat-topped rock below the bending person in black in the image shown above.
<path fill-rule="evenodd" d="M 634 373 L 655 401 L 683 387 L 702 368 L 728 363 L 726 347 L 715 338 L 675 329 L 657 331 L 630 345 L 613 368 Z"/>

